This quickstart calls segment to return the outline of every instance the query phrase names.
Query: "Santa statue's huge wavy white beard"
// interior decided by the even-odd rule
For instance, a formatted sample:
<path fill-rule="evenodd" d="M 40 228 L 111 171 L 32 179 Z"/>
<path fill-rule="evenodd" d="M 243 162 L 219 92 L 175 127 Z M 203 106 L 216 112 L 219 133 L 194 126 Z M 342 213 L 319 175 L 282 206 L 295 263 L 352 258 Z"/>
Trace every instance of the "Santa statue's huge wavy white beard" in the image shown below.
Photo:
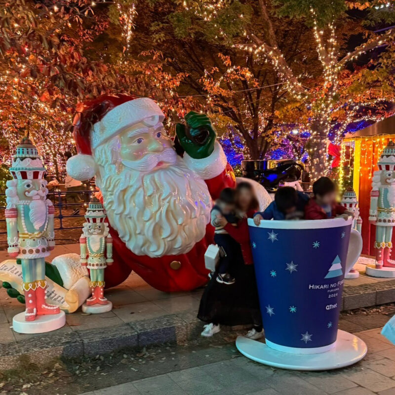
<path fill-rule="evenodd" d="M 141 160 L 136 167 L 133 161 L 122 164 L 118 144 L 116 138 L 94 152 L 96 184 L 111 226 L 136 255 L 187 253 L 204 237 L 210 219 L 206 183 L 172 148 L 147 154 L 143 169 Z M 152 163 L 159 166 L 152 168 Z"/>

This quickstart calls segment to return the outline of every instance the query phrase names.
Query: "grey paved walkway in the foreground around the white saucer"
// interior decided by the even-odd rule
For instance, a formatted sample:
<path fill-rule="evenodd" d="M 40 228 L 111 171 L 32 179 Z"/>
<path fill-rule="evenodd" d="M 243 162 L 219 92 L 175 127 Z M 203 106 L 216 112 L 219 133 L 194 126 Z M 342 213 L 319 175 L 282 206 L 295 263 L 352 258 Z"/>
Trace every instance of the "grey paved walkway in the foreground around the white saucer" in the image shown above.
<path fill-rule="evenodd" d="M 287 371 L 250 361 L 236 352 L 214 363 L 208 360 L 84 395 L 394 395 L 395 346 L 380 335 L 380 329 L 357 335 L 367 343 L 368 355 L 344 369 Z M 207 353 L 210 359 L 209 354 L 216 351 L 211 349 Z"/>

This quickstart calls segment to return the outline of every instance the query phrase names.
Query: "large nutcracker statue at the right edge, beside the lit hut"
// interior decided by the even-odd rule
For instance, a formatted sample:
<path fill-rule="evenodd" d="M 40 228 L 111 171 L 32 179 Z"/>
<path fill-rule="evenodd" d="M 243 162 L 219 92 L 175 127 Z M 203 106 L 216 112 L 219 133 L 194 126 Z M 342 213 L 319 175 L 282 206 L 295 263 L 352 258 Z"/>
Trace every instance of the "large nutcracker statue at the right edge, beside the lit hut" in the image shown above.
<path fill-rule="evenodd" d="M 395 277 L 395 261 L 391 259 L 392 231 L 395 226 L 395 144 L 390 141 L 378 161 L 370 193 L 369 222 L 376 225 L 375 267 L 367 266 L 366 274 Z"/>

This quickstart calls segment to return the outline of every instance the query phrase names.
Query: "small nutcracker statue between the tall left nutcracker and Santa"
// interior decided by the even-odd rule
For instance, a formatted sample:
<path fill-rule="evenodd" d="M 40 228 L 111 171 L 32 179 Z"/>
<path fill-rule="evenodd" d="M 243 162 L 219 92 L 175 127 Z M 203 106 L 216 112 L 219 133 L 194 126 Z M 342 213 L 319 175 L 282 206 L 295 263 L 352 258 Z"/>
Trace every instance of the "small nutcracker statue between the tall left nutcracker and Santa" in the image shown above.
<path fill-rule="evenodd" d="M 79 238 L 80 262 L 90 271 L 89 285 L 92 295 L 82 305 L 82 311 L 93 314 L 105 313 L 113 308 L 112 303 L 104 297 L 104 269 L 113 263 L 113 239 L 107 223 L 104 222 L 106 213 L 103 205 L 96 198 L 89 202 L 85 218 L 86 222 Z"/>

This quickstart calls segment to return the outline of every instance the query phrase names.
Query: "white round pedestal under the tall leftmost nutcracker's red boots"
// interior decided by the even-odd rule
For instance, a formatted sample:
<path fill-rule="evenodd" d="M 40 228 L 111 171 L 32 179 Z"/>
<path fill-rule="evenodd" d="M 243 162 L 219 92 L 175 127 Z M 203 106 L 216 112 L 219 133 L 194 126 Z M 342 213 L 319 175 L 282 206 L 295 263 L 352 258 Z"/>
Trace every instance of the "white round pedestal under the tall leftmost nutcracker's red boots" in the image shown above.
<path fill-rule="evenodd" d="M 59 314 L 36 316 L 34 321 L 26 321 L 25 312 L 22 312 L 12 318 L 12 329 L 18 333 L 45 333 L 59 329 L 65 323 L 66 315 L 62 310 Z"/>

